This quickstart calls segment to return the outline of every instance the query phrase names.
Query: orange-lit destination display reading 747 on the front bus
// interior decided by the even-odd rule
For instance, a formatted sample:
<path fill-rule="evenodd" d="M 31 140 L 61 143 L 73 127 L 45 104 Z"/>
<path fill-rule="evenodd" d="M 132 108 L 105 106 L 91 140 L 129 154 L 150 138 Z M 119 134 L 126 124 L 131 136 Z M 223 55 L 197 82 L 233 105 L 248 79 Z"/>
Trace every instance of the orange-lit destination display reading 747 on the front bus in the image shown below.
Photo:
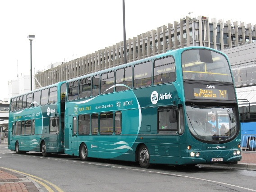
<path fill-rule="evenodd" d="M 224 99 L 228 100 L 228 91 L 224 89 L 194 88 L 195 99 Z"/>

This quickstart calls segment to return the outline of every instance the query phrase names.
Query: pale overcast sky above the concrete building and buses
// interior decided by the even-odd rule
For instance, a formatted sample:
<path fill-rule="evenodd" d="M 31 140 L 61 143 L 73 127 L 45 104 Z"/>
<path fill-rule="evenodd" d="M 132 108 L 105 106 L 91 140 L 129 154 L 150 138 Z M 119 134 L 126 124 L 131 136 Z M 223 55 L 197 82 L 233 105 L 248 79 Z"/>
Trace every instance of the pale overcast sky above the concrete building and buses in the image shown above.
<path fill-rule="evenodd" d="M 58 61 L 69 61 L 123 41 L 122 0 L 1 0 L 0 99 L 8 96 L 8 81 L 45 70 Z M 125 0 L 126 39 L 189 16 L 207 16 L 256 24 L 251 5 L 231 0 L 215 1 Z"/>

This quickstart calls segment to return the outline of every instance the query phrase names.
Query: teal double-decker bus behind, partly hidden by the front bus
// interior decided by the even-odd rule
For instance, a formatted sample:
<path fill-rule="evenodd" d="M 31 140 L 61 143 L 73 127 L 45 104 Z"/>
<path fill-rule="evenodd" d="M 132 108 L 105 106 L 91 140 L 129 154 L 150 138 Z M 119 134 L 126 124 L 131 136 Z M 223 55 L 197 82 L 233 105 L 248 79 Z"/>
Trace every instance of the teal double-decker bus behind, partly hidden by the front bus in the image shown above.
<path fill-rule="evenodd" d="M 8 149 L 64 153 L 66 82 L 59 82 L 10 99 Z"/>

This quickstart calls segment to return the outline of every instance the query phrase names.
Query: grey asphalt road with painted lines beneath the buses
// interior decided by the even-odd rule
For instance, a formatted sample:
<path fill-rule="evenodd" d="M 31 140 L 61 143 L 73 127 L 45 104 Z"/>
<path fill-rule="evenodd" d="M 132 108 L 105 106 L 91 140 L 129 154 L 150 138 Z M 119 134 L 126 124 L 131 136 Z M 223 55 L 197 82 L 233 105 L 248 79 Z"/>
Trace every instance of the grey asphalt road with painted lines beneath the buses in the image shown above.
<path fill-rule="evenodd" d="M 53 191 L 256 191 L 256 171 L 250 170 L 167 165 L 142 169 L 136 163 L 125 161 L 92 159 L 83 162 L 69 155 L 42 157 L 41 153 L 34 152 L 17 155 L 1 146 L 0 166 L 31 174 L 46 184 L 48 181 L 48 185 L 58 187 L 52 187 Z"/>

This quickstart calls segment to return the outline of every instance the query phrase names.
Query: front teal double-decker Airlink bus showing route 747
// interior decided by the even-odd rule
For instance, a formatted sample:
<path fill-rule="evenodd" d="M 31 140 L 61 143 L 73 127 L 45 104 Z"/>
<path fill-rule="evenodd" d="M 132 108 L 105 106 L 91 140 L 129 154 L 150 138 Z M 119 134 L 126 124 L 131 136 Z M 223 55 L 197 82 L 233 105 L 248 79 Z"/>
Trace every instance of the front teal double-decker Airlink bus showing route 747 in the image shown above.
<path fill-rule="evenodd" d="M 237 163 L 229 60 L 186 47 L 67 81 L 65 153 L 152 164 Z"/>

